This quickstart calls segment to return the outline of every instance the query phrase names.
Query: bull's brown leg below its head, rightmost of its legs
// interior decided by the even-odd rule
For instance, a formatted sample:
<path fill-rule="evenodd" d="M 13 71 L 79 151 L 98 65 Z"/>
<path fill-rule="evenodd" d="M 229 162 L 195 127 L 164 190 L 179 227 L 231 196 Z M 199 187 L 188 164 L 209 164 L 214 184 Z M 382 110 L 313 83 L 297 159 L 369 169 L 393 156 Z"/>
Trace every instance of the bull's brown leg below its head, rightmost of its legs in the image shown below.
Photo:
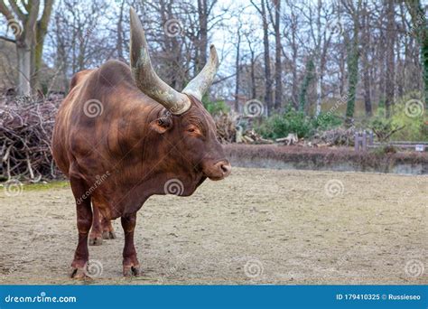
<path fill-rule="evenodd" d="M 124 276 L 138 276 L 140 274 L 140 264 L 136 258 L 136 251 L 134 246 L 136 212 L 122 216 L 121 223 L 125 234 L 125 247 L 123 253 Z"/>

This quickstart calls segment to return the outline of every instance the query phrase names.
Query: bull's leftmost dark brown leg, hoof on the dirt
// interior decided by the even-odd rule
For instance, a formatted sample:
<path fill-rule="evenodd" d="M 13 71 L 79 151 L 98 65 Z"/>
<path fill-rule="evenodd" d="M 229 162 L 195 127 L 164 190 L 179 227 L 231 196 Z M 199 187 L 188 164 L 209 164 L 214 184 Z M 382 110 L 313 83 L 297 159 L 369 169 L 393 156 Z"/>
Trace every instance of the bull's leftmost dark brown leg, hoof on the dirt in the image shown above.
<path fill-rule="evenodd" d="M 92 224 L 92 210 L 90 196 L 87 195 L 85 183 L 77 178 L 70 177 L 71 190 L 76 199 L 79 242 L 74 259 L 71 263 L 72 278 L 85 278 L 85 267 L 89 259 L 88 234 Z"/>

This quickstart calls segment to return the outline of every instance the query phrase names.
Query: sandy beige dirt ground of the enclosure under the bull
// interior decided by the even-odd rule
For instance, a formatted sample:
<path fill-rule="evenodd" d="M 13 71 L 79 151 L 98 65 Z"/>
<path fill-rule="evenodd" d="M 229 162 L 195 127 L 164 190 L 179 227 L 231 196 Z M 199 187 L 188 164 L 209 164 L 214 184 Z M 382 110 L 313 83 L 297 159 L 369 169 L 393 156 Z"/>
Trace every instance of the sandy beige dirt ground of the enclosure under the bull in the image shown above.
<path fill-rule="evenodd" d="M 428 177 L 234 168 L 138 213 L 140 277 L 122 277 L 123 232 L 90 247 L 88 284 L 428 284 Z M 10 195 L 10 194 L 9 194 Z M 0 284 L 67 277 L 70 188 L 0 190 Z"/>

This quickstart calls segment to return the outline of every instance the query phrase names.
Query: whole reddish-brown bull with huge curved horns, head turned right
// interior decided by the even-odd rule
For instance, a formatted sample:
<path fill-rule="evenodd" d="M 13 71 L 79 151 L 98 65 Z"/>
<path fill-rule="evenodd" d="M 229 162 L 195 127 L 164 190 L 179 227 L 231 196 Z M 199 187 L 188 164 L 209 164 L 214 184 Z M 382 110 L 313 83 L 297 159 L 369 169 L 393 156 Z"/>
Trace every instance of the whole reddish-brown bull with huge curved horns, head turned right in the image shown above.
<path fill-rule="evenodd" d="M 191 195 L 207 177 L 220 180 L 231 170 L 214 121 L 200 103 L 219 65 L 214 46 L 203 70 L 181 92 L 154 72 L 133 9 L 130 48 L 131 69 L 107 61 L 77 73 L 56 118 L 52 153 L 70 178 L 77 208 L 72 277 L 86 276 L 92 223 L 97 242 L 103 230 L 113 236 L 109 223 L 118 217 L 125 232 L 124 275 L 138 275 L 134 229 L 144 201 L 154 194 Z"/>

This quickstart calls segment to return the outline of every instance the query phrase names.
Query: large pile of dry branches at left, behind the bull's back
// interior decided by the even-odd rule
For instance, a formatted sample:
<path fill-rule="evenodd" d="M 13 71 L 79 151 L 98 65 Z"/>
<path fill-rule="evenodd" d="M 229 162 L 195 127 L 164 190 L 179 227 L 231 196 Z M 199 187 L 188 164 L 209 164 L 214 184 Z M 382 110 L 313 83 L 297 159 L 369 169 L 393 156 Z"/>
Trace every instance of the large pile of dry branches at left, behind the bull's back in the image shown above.
<path fill-rule="evenodd" d="M 61 98 L 0 98 L 0 178 L 39 182 L 59 175 L 51 135 Z"/>

